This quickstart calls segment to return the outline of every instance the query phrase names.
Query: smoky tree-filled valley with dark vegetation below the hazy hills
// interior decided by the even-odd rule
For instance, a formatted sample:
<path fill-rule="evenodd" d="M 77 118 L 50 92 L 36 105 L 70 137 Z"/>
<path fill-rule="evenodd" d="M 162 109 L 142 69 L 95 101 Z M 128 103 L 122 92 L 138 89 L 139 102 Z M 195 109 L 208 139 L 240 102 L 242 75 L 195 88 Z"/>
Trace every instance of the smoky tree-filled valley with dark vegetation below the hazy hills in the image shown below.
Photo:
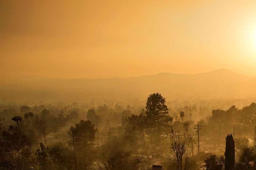
<path fill-rule="evenodd" d="M 196 104 L 171 108 L 158 93 L 136 107 L 1 104 L 0 167 L 134 170 L 162 164 L 175 170 L 255 169 L 255 116 L 255 103 L 227 110 Z"/>

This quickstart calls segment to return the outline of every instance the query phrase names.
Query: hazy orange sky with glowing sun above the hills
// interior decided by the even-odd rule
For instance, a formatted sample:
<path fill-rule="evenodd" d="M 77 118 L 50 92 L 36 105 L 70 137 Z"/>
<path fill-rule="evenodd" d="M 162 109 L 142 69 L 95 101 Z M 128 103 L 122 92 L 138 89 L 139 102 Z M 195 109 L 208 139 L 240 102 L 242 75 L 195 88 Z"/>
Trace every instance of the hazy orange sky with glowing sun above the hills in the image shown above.
<path fill-rule="evenodd" d="M 0 1 L 0 75 L 256 76 L 256 1 Z"/>

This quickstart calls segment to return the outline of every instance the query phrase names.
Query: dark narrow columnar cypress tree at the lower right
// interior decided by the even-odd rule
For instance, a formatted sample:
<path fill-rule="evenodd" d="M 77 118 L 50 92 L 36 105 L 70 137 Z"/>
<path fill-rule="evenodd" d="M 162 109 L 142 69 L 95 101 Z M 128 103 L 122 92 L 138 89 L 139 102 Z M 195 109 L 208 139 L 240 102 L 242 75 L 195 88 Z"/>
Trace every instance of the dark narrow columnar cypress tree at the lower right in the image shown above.
<path fill-rule="evenodd" d="M 235 141 L 232 134 L 226 137 L 225 170 L 233 170 L 235 166 Z"/>

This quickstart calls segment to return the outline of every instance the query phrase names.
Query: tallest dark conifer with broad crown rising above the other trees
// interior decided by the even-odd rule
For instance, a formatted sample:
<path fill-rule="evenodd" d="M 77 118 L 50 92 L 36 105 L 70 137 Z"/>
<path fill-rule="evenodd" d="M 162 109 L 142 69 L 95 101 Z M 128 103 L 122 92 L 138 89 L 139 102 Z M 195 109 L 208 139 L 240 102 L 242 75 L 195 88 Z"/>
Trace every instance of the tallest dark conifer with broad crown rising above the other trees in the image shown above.
<path fill-rule="evenodd" d="M 169 131 L 169 122 L 173 121 L 165 105 L 165 98 L 161 94 L 154 93 L 147 98 L 146 118 L 148 128 L 150 129 L 151 145 L 153 136 L 155 137 L 155 144 L 159 145 L 161 135 Z"/>

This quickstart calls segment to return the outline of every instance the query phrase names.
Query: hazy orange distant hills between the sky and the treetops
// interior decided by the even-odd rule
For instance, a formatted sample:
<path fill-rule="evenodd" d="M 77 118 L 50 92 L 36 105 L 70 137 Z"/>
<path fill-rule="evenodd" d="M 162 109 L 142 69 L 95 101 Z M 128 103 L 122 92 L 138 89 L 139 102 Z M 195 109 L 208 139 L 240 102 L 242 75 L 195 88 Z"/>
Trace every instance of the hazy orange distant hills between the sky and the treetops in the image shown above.
<path fill-rule="evenodd" d="M 145 97 L 159 92 L 169 99 L 256 97 L 256 78 L 219 69 L 198 74 L 159 73 L 128 78 L 1 79 L 2 95 L 40 91 L 54 97 Z M 53 95 L 55 94 L 55 95 Z M 0 98 L 1 99 L 1 98 Z"/>

